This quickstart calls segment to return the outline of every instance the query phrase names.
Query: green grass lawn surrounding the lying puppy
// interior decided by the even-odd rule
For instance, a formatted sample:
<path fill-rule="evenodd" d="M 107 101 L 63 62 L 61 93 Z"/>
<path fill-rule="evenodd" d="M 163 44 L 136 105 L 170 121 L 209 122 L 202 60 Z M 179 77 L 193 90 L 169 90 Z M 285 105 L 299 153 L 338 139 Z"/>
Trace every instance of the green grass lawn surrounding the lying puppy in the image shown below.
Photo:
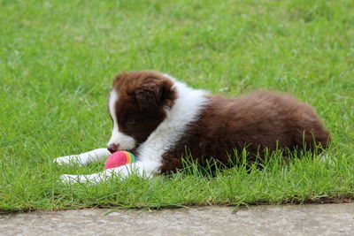
<path fill-rule="evenodd" d="M 352 199 L 353 9 L 351 0 L 0 0 L 0 212 Z M 216 177 L 195 170 L 60 184 L 60 174 L 104 169 L 50 162 L 105 146 L 112 77 L 139 69 L 227 96 L 258 88 L 296 95 L 333 133 L 333 164 L 307 155 Z"/>

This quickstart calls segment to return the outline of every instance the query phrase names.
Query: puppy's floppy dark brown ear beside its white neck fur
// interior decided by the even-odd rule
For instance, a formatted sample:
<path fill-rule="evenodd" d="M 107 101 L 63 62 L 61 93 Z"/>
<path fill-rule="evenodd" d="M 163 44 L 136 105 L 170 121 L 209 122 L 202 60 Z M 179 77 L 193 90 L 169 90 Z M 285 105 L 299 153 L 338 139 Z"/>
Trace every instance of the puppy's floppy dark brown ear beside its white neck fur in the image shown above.
<path fill-rule="evenodd" d="M 160 105 L 172 106 L 174 96 L 173 84 L 170 80 L 146 80 L 135 90 L 135 100 L 141 110 L 150 110 Z"/>

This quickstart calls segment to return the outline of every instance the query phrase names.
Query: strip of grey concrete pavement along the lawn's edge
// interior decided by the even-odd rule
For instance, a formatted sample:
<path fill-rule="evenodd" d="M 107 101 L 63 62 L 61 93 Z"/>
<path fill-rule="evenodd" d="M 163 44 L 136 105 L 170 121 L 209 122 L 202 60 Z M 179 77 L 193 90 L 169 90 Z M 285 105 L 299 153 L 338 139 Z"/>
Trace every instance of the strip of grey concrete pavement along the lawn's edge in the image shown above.
<path fill-rule="evenodd" d="M 354 203 L 42 211 L 0 215 L 0 234 L 354 235 Z"/>

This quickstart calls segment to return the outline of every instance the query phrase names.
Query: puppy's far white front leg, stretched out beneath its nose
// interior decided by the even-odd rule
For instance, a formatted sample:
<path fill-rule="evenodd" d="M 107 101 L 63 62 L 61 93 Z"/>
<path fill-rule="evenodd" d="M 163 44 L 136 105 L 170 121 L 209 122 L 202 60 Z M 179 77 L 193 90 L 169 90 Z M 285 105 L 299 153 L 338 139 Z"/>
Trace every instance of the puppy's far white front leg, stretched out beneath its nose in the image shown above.
<path fill-rule="evenodd" d="M 70 156 L 60 156 L 53 160 L 55 164 L 81 164 L 87 165 L 100 160 L 103 160 L 105 157 L 110 156 L 111 153 L 107 148 L 97 148 L 89 152 L 84 152 L 78 155 Z"/>

